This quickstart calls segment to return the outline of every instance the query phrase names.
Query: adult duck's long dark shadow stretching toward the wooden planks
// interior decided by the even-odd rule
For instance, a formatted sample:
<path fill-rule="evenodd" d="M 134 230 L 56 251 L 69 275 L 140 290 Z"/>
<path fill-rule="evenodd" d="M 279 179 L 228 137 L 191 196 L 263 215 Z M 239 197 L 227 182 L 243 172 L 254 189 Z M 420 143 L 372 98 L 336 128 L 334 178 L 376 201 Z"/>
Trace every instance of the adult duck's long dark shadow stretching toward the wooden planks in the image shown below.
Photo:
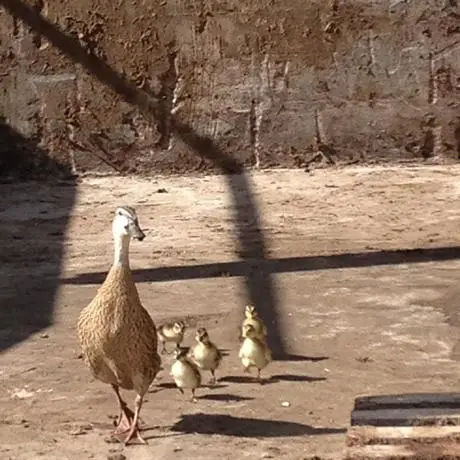
<path fill-rule="evenodd" d="M 171 431 L 194 434 L 220 434 L 243 438 L 275 438 L 345 433 L 346 428 L 315 428 L 296 422 L 233 417 L 224 414 L 186 414 Z"/>

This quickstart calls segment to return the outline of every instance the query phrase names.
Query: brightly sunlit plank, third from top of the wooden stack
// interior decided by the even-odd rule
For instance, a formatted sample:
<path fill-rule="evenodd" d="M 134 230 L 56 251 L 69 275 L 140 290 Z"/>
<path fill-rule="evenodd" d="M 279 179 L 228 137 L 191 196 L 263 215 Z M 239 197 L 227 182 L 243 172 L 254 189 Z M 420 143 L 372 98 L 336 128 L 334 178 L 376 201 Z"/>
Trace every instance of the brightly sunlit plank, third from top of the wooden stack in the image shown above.
<path fill-rule="evenodd" d="M 460 441 L 460 426 L 355 426 L 347 432 L 348 446 L 371 444 L 448 443 Z"/>

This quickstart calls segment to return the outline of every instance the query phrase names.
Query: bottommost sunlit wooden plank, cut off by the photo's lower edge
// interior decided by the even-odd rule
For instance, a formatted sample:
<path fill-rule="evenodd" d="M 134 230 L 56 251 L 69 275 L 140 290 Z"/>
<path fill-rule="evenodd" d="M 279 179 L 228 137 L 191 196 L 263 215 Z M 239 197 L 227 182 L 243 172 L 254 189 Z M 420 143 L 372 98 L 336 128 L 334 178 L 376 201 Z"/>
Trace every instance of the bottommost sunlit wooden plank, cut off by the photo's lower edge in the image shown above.
<path fill-rule="evenodd" d="M 345 460 L 454 460 L 460 459 L 460 446 L 364 446 L 347 449 Z"/>

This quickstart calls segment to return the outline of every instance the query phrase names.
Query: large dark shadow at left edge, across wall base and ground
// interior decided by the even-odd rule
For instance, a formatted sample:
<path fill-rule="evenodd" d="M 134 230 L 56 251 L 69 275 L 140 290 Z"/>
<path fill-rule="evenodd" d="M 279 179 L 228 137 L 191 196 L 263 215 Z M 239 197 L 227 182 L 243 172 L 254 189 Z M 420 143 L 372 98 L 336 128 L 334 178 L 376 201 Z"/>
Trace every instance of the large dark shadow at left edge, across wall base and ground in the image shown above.
<path fill-rule="evenodd" d="M 12 195 L 12 183 L 43 179 L 39 172 L 61 179 L 29 182 L 20 197 Z M 0 116 L 0 352 L 52 324 L 76 195 L 69 177 L 65 167 Z"/>

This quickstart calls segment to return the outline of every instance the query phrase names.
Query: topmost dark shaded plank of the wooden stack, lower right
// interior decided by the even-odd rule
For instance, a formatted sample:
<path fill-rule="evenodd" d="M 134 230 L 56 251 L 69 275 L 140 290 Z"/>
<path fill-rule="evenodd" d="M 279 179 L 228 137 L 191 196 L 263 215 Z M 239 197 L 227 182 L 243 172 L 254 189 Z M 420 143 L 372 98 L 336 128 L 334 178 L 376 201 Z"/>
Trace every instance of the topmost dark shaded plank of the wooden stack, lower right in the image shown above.
<path fill-rule="evenodd" d="M 399 395 L 362 396 L 355 399 L 356 410 L 403 408 L 460 408 L 460 393 L 406 393 Z"/>

